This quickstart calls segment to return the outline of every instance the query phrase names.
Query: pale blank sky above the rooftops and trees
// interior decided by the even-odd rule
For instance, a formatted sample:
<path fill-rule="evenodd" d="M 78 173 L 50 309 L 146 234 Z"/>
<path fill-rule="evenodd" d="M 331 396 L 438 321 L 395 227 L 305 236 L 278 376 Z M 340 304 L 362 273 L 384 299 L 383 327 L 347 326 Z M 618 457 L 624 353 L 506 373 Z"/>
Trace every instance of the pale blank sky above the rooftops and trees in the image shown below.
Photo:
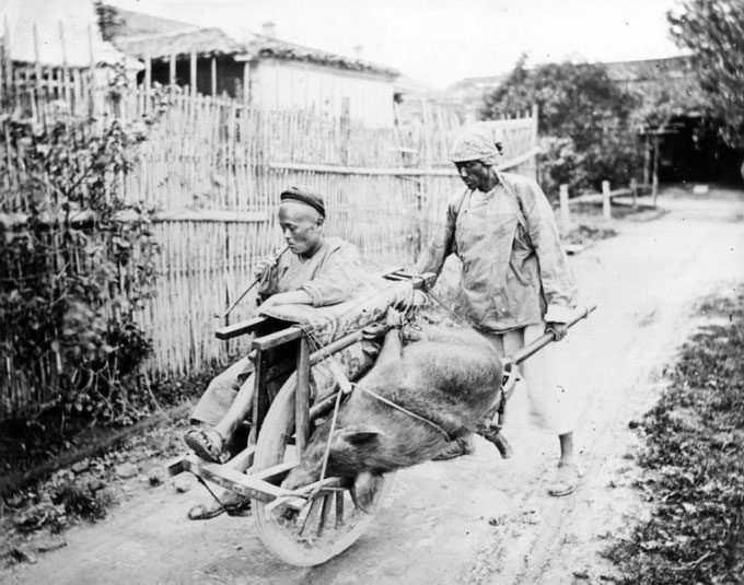
<path fill-rule="evenodd" d="M 444 89 L 466 77 L 563 59 L 671 57 L 665 13 L 679 0 L 107 0 L 218 26 L 241 39 L 276 23 L 279 38 L 363 57 Z"/>

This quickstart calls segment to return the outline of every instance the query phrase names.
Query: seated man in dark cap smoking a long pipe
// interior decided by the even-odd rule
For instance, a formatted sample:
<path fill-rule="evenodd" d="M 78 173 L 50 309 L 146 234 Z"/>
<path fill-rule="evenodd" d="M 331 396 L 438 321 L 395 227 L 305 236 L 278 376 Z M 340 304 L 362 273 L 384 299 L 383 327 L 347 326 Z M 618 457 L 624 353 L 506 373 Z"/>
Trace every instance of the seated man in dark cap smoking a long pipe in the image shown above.
<path fill-rule="evenodd" d="M 368 277 L 354 246 L 338 237 L 324 236 L 323 198 L 306 188 L 292 187 L 280 199 L 279 225 L 292 254 L 282 255 L 278 261 L 264 260 L 258 266 L 256 272 L 261 279 L 258 296 L 263 306 L 327 306 L 350 300 Z M 248 417 L 254 393 L 252 372 L 247 356 L 231 365 L 210 383 L 191 413 L 191 420 L 199 425 L 189 429 L 184 438 L 202 459 L 220 461 L 223 449 Z M 245 447 L 245 441 L 241 443 Z M 222 506 L 213 514 L 207 514 L 206 508 L 193 510 L 189 517 L 212 517 L 221 511 Z"/>

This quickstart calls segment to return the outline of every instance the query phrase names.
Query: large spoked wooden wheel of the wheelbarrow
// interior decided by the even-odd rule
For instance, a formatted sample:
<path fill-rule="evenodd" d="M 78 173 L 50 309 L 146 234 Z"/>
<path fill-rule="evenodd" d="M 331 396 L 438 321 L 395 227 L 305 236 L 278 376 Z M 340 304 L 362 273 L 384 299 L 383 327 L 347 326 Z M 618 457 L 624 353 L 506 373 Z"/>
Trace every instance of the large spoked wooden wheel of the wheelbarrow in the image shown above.
<path fill-rule="evenodd" d="M 294 433 L 295 383 L 292 375 L 271 402 L 256 442 L 255 471 L 299 460 L 293 445 L 289 445 Z M 376 502 L 391 483 L 391 475 L 381 481 Z M 374 519 L 373 513 L 364 513 L 354 505 L 349 490 L 341 489 L 322 492 L 302 512 L 286 508 L 267 514 L 266 505 L 258 500 L 252 502 L 258 536 L 269 551 L 298 566 L 317 565 L 345 551 Z"/>

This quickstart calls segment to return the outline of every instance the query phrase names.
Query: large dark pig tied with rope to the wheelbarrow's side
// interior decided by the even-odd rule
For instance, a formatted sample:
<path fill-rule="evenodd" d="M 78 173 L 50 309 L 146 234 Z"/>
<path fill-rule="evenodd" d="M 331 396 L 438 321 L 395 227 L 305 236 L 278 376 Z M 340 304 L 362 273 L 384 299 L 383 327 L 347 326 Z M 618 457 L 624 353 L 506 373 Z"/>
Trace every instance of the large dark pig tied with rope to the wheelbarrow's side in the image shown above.
<path fill-rule="evenodd" d="M 473 329 L 429 329 L 405 347 L 390 329 L 375 365 L 358 385 L 415 412 L 417 420 L 360 389 L 341 405 L 333 432 L 326 477 L 353 479 L 357 505 L 370 511 L 383 473 L 434 458 L 450 441 L 474 432 L 493 407 L 503 365 L 496 349 Z M 319 425 L 301 461 L 282 485 L 317 481 L 330 431 Z"/>

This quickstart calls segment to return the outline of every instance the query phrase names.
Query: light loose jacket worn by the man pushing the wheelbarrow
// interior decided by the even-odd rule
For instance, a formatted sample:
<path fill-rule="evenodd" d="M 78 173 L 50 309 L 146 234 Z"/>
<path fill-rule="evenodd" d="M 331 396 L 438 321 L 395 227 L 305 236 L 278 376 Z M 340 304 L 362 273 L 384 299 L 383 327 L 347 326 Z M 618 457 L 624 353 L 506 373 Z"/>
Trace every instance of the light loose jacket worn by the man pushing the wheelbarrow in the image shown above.
<path fill-rule="evenodd" d="M 491 191 L 466 190 L 450 200 L 417 268 L 439 276 L 455 254 L 463 264 L 455 312 L 478 329 L 566 323 L 577 291 L 550 203 L 534 180 L 497 176 Z"/>

